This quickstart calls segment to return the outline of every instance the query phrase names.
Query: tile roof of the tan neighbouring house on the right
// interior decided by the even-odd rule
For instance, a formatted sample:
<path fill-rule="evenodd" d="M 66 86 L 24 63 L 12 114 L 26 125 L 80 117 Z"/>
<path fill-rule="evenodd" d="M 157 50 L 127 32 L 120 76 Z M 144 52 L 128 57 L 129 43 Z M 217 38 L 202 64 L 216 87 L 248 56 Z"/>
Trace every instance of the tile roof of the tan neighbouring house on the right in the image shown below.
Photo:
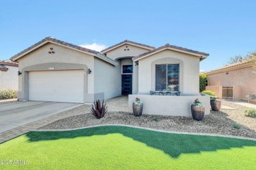
<path fill-rule="evenodd" d="M 207 71 L 205 72 L 206 75 L 211 75 L 212 73 L 219 73 L 221 71 L 227 71 L 230 69 L 235 69 L 237 67 L 246 67 L 246 66 L 251 66 L 253 65 L 253 63 L 251 62 L 251 59 L 246 59 L 244 61 L 241 62 L 237 62 L 237 63 L 232 63 L 230 65 L 225 65 L 223 67 L 220 67 L 219 69 L 214 69 L 211 71 Z"/>

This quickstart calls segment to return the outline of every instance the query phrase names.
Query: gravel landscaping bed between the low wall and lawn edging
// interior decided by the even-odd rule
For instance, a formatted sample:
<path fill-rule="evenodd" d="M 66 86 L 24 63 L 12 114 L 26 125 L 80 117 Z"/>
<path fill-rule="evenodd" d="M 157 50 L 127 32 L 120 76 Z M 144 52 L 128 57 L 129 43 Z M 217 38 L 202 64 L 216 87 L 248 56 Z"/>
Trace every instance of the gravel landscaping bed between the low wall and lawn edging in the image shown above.
<path fill-rule="evenodd" d="M 127 112 L 128 107 L 123 104 L 124 101 L 127 102 L 127 97 L 117 97 L 107 101 L 108 108 L 112 109 L 101 119 L 96 119 L 93 114 L 89 113 L 90 105 L 83 105 L 75 108 L 77 115 L 57 120 L 39 129 L 72 129 L 95 125 L 122 124 L 167 131 L 213 133 L 256 138 L 256 118 L 244 116 L 246 107 L 235 105 L 228 101 L 222 101 L 222 104 L 232 107 L 233 110 L 221 109 L 219 112 L 211 110 L 211 114 L 206 115 L 202 121 L 196 121 L 191 117 L 184 116 L 158 116 L 145 113 L 136 117 Z M 240 129 L 234 128 L 232 126 L 234 123 L 240 124 Z"/>

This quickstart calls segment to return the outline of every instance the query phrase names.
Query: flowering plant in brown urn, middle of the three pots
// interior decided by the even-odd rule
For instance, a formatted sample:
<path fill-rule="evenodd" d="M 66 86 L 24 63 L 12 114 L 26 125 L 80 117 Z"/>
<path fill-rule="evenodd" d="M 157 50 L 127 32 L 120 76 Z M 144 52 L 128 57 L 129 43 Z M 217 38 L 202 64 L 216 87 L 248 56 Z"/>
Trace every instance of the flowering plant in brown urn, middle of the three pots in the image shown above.
<path fill-rule="evenodd" d="M 194 120 L 203 120 L 205 113 L 205 107 L 198 99 L 194 100 L 194 103 L 191 105 L 192 118 Z"/>

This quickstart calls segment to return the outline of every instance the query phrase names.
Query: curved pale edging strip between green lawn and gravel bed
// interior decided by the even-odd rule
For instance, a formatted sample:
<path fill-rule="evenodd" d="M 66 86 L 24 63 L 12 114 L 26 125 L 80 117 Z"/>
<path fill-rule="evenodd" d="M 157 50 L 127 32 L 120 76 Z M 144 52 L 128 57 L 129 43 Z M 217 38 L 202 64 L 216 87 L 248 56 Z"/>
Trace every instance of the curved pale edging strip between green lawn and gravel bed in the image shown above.
<path fill-rule="evenodd" d="M 122 124 L 103 124 L 103 125 L 95 125 L 95 126 L 87 126 L 87 127 L 78 127 L 74 129 L 35 129 L 33 131 L 74 131 L 79 129 L 87 129 L 91 127 L 100 127 L 100 126 L 124 126 L 124 127 L 135 127 L 138 129 L 146 129 L 150 131 L 158 131 L 163 133 L 175 133 L 175 134 L 182 134 L 182 135 L 202 135 L 202 136 L 213 136 L 213 137 L 230 137 L 234 139 L 245 139 L 245 140 L 251 140 L 256 141 L 256 139 L 251 137 L 238 137 L 238 136 L 232 136 L 232 135 L 218 135 L 213 133 L 194 133 L 194 132 L 181 132 L 181 131 L 165 131 L 160 129 L 152 129 L 148 127 L 139 127 L 139 126 L 131 126 L 131 125 L 122 125 Z"/>

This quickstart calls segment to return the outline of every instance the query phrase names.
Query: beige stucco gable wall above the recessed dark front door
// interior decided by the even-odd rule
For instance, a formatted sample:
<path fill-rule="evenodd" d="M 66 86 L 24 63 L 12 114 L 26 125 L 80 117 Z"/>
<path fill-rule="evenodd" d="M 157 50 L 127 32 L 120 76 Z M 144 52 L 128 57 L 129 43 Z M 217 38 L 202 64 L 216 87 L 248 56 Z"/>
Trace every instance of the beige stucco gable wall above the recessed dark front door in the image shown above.
<path fill-rule="evenodd" d="M 129 49 L 129 51 L 127 49 Z M 119 58 L 125 58 L 125 57 L 139 56 L 140 54 L 148 51 L 149 50 L 144 48 L 140 48 L 130 44 L 124 44 L 122 46 L 115 48 L 114 50 L 106 52 L 106 56 L 111 59 L 119 59 Z"/>

